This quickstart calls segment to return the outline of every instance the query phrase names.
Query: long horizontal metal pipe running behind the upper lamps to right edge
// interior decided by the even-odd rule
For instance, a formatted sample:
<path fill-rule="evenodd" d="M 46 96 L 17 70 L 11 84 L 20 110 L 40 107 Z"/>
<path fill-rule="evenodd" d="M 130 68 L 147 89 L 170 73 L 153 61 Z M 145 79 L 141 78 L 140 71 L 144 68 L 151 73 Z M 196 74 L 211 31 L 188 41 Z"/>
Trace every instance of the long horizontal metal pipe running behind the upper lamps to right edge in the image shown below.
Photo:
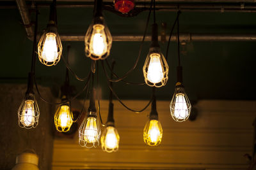
<path fill-rule="evenodd" d="M 60 35 L 61 41 L 84 41 L 84 35 Z M 143 36 L 113 35 L 113 41 L 141 41 Z M 161 37 L 159 36 L 159 39 Z M 168 39 L 168 36 L 166 36 Z M 151 41 L 151 36 L 146 36 L 145 41 Z M 171 41 L 177 41 L 172 36 Z M 192 34 L 180 33 L 180 41 L 256 41 L 256 34 Z"/>

